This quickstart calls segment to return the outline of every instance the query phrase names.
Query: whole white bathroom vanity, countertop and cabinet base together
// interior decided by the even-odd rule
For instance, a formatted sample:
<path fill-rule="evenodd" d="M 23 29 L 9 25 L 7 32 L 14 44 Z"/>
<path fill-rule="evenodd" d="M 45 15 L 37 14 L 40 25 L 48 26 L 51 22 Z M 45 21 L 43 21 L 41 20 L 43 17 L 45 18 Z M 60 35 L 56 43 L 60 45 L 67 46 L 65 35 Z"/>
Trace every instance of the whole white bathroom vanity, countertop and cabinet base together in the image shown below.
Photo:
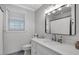
<path fill-rule="evenodd" d="M 50 39 L 33 38 L 31 41 L 32 55 L 79 55 L 74 45 L 59 43 Z"/>

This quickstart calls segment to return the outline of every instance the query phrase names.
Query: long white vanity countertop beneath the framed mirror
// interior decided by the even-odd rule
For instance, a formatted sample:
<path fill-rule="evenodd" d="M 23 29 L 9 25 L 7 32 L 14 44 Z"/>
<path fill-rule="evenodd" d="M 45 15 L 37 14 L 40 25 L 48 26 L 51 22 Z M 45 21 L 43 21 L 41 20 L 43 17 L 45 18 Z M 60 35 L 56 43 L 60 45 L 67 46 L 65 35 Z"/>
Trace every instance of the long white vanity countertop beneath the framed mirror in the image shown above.
<path fill-rule="evenodd" d="M 74 45 L 61 44 L 59 42 L 41 38 L 33 38 L 32 40 L 62 55 L 79 55 L 79 50 L 76 49 Z"/>

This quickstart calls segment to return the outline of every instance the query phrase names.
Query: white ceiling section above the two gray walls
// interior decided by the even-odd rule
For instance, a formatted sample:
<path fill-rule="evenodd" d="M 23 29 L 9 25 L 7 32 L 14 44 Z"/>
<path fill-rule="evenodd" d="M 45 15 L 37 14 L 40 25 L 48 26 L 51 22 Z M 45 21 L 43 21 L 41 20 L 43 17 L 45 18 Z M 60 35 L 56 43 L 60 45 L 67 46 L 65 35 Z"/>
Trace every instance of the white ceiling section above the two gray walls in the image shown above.
<path fill-rule="evenodd" d="M 28 10 L 36 11 L 43 4 L 14 4 L 14 5 L 21 7 L 21 8 L 28 9 Z"/>

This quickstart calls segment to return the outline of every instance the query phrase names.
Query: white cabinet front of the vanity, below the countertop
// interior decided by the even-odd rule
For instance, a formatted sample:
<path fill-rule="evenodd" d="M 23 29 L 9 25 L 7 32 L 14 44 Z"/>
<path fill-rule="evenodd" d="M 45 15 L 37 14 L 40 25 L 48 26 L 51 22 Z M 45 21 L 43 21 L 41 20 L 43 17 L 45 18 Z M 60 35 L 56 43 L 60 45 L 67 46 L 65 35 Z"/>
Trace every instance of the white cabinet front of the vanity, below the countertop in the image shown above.
<path fill-rule="evenodd" d="M 37 42 L 32 41 L 31 44 L 31 55 L 60 55 L 54 50 L 51 50 Z"/>

